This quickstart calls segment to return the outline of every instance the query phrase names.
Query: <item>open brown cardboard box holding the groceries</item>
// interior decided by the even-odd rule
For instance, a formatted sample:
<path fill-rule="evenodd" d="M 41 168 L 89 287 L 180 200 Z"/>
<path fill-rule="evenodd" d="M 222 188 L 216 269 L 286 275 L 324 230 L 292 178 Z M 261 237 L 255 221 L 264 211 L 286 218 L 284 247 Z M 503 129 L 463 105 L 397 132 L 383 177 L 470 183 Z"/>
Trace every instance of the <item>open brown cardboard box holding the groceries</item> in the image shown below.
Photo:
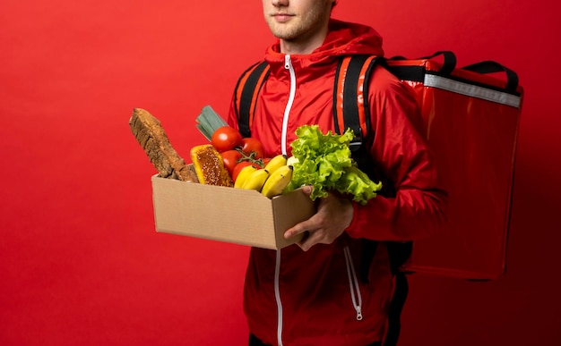
<path fill-rule="evenodd" d="M 266 198 L 255 190 L 204 185 L 154 175 L 152 198 L 156 231 L 214 241 L 281 249 L 283 233 L 315 214 L 301 190 Z"/>

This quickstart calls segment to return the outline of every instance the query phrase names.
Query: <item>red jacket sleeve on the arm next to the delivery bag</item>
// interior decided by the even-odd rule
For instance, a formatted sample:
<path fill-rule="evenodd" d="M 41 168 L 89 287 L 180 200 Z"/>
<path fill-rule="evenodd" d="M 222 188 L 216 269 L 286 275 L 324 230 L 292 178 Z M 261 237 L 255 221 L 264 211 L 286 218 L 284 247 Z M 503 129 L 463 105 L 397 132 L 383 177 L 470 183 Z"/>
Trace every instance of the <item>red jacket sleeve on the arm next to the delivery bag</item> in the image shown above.
<path fill-rule="evenodd" d="M 346 232 L 375 241 L 416 241 L 440 231 L 446 221 L 447 195 L 427 145 L 419 106 L 409 87 L 384 68 L 376 68 L 369 85 L 375 139 L 370 154 L 395 190 L 366 206 L 353 202 Z"/>

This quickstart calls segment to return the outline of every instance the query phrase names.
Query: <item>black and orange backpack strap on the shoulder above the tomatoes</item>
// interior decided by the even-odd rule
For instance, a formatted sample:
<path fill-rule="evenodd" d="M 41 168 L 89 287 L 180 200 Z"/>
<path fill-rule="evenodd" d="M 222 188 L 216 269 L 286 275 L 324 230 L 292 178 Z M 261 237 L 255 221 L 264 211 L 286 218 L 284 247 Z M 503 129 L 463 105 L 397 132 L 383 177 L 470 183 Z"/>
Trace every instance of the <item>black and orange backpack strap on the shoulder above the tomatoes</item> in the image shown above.
<path fill-rule="evenodd" d="M 243 137 L 251 137 L 251 125 L 255 115 L 257 97 L 264 81 L 269 76 L 270 66 L 263 61 L 249 67 L 237 80 L 234 103 L 237 112 L 239 132 Z"/>

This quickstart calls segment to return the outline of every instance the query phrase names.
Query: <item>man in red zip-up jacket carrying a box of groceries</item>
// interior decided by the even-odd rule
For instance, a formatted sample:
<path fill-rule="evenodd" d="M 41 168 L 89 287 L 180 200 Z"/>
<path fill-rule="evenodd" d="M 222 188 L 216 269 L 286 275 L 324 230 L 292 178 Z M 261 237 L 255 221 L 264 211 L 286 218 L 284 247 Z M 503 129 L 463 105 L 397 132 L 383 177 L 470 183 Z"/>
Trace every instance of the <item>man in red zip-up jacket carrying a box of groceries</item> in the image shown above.
<path fill-rule="evenodd" d="M 332 97 L 341 56 L 384 55 L 375 30 L 331 19 L 334 4 L 263 0 L 278 40 L 265 54 L 271 72 L 251 134 L 267 156 L 290 154 L 301 125 L 335 130 Z M 382 345 L 396 284 L 387 241 L 415 241 L 444 223 L 445 193 L 418 105 L 393 74 L 379 66 L 372 73 L 367 97 L 375 139 L 367 149 L 393 192 L 366 206 L 330 193 L 315 215 L 285 233 L 307 232 L 298 246 L 251 250 L 244 293 L 250 345 Z M 233 103 L 229 124 L 237 128 L 236 114 Z M 366 241 L 377 244 L 369 256 Z"/>

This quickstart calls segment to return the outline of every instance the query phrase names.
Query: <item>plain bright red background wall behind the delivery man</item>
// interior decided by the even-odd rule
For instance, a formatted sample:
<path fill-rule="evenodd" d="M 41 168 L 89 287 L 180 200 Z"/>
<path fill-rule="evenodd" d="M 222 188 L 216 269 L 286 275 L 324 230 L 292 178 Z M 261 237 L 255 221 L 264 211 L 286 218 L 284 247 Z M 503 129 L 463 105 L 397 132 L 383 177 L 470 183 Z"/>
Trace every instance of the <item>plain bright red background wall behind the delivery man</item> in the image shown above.
<path fill-rule="evenodd" d="M 340 3 L 388 55 L 496 60 L 526 91 L 508 274 L 414 275 L 401 345 L 560 344 L 557 2 Z M 0 30 L 0 344 L 246 344 L 248 249 L 154 232 L 128 119 L 149 110 L 184 156 L 201 144 L 195 116 L 226 114 L 272 42 L 260 4 L 4 1 Z"/>

